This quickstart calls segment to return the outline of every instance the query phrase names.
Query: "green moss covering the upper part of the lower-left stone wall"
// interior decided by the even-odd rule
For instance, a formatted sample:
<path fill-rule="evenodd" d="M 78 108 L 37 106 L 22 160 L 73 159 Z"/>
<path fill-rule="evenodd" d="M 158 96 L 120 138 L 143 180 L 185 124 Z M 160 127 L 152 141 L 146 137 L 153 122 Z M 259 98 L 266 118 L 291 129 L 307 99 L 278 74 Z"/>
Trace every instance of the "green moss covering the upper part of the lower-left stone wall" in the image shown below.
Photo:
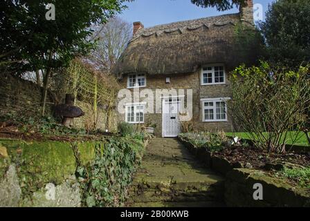
<path fill-rule="evenodd" d="M 66 177 L 75 174 L 76 159 L 69 142 L 24 142 L 0 140 L 6 146 L 10 161 L 17 164 L 19 182 L 24 194 L 42 189 L 45 184 L 61 184 Z M 78 143 L 81 161 L 86 163 L 94 157 L 93 142 Z M 5 173 L 8 163 L 0 162 L 0 173 Z"/>

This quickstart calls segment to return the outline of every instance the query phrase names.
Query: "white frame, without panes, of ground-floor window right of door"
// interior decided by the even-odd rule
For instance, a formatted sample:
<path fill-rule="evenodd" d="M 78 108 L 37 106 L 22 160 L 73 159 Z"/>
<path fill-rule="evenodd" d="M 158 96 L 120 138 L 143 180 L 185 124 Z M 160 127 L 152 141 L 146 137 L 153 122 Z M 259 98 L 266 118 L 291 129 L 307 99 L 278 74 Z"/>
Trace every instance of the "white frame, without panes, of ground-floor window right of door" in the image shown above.
<path fill-rule="evenodd" d="M 202 122 L 227 122 L 227 101 L 230 97 L 217 97 L 217 98 L 203 98 L 201 99 L 201 109 L 202 109 Z M 212 108 L 206 108 L 205 103 L 212 102 Z M 217 102 L 225 102 L 225 119 L 217 119 Z M 213 110 L 213 119 L 205 119 L 205 109 Z"/>

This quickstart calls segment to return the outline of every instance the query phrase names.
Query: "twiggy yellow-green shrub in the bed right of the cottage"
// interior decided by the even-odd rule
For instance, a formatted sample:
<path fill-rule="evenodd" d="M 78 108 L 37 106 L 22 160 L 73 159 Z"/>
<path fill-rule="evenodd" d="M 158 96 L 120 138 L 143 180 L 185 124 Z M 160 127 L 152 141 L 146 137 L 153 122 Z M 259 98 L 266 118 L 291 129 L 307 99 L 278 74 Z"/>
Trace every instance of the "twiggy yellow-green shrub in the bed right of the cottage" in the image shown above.
<path fill-rule="evenodd" d="M 286 142 L 294 144 L 299 131 L 309 135 L 309 71 L 310 66 L 273 70 L 266 62 L 235 69 L 229 111 L 255 146 L 284 153 Z"/>

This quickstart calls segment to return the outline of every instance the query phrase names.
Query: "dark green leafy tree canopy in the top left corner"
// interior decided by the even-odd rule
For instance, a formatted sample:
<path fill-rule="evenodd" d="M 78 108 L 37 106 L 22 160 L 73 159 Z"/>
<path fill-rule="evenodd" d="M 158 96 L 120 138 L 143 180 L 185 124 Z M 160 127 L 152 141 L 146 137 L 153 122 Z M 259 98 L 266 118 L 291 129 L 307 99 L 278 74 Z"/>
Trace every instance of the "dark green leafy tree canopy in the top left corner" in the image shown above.
<path fill-rule="evenodd" d="M 1 61 L 28 61 L 21 70 L 57 68 L 91 49 L 92 23 L 106 23 L 126 0 L 3 0 L 0 10 Z M 55 5 L 55 21 L 46 5 Z M 57 55 L 49 59 L 49 55 Z"/>

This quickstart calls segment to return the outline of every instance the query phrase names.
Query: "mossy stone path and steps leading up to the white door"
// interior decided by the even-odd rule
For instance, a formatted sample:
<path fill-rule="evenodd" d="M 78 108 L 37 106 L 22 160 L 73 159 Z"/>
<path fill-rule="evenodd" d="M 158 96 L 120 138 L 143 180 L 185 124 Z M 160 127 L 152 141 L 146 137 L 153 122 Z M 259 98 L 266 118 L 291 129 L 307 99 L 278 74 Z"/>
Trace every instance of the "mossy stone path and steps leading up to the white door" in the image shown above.
<path fill-rule="evenodd" d="M 224 178 L 203 168 L 177 140 L 155 138 L 127 206 L 224 206 Z"/>

